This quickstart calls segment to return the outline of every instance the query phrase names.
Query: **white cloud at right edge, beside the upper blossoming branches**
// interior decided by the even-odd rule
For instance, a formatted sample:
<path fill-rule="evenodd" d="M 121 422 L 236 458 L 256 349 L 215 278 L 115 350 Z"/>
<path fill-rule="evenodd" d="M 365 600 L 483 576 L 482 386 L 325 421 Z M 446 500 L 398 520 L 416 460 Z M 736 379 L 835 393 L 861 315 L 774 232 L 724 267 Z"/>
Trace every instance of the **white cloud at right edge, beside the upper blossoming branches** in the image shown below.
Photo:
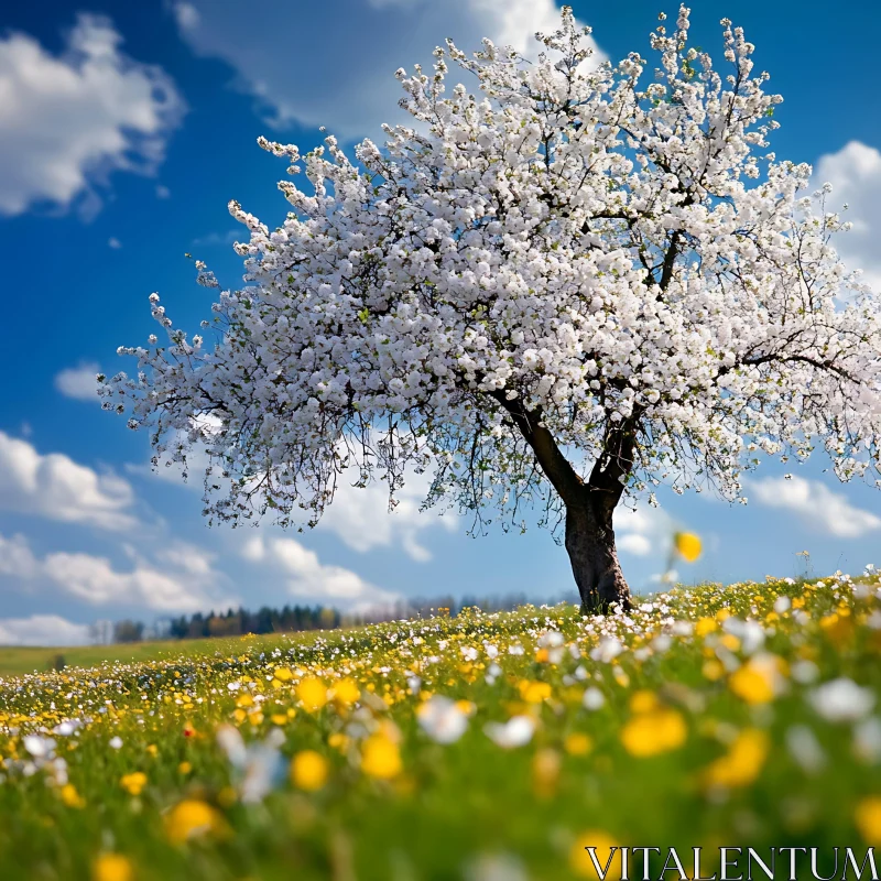
<path fill-rule="evenodd" d="M 826 210 L 841 211 L 853 224 L 850 232 L 835 238 L 835 247 L 848 269 L 861 269 L 863 280 L 881 293 L 881 152 L 860 141 L 850 141 L 837 153 L 827 153 L 814 165 L 811 192 L 824 183 L 833 185 Z"/>

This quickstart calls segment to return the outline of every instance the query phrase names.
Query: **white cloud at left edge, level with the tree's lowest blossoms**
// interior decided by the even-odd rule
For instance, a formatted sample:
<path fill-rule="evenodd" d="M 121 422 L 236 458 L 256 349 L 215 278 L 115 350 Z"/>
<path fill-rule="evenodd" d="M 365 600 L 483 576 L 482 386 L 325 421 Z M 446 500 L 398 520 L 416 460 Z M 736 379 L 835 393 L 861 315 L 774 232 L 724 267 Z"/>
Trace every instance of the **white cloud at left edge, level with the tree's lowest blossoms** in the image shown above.
<path fill-rule="evenodd" d="M 131 486 L 0 432 L 0 508 L 116 532 L 133 527 Z"/>

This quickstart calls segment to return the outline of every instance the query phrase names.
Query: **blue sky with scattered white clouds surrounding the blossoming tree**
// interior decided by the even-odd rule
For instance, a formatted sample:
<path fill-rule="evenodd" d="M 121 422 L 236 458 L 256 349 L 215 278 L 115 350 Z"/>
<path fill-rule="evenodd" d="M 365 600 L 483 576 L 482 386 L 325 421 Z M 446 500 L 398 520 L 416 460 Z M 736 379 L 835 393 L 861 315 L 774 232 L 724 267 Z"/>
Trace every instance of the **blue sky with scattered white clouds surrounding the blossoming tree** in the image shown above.
<path fill-rule="evenodd" d="M 291 11 L 285 11 L 285 8 Z M 574 3 L 613 61 L 648 54 L 663 8 Z M 836 14 L 811 2 L 693 4 L 695 42 L 719 55 L 729 15 L 757 44 L 757 65 L 784 96 L 780 157 L 809 162 L 849 204 L 846 260 L 881 282 L 881 122 L 875 34 L 881 12 Z M 347 491 L 307 534 L 208 529 L 198 483 L 149 469 L 145 434 L 100 411 L 90 377 L 130 368 L 120 345 L 154 329 L 157 291 L 183 327 L 207 317 L 193 253 L 224 286 L 241 276 L 243 231 L 230 198 L 271 227 L 287 208 L 284 163 L 260 134 L 308 149 L 318 126 L 351 144 L 393 121 L 399 66 L 429 61 L 452 35 L 531 51 L 554 26 L 553 0 L 338 0 L 264 6 L 204 2 L 7 4 L 0 15 L 0 643 L 78 642 L 85 626 L 145 621 L 229 603 L 322 601 L 357 607 L 403 597 L 515 594 L 575 598 L 551 535 L 469 539 L 468 522 L 403 510 L 382 492 Z M 842 85 L 846 83 L 846 87 Z M 762 579 L 803 569 L 857 572 L 877 558 L 881 496 L 842 487 L 817 457 L 784 481 L 769 464 L 750 504 L 661 494 L 662 510 L 618 518 L 626 574 L 649 589 L 673 529 L 705 554 L 683 580 Z"/>

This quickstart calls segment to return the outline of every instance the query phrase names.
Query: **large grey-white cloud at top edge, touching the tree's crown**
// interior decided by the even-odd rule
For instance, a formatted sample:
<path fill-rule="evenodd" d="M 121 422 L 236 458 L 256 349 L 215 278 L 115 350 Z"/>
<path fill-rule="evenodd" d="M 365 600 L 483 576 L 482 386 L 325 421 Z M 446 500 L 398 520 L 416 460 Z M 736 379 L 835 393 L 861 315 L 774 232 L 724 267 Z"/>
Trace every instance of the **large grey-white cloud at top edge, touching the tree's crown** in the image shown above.
<path fill-rule="evenodd" d="M 270 124 L 327 126 L 346 139 L 410 118 L 396 106 L 403 93 L 394 70 L 416 62 L 431 69 L 431 53 L 446 37 L 466 52 L 489 36 L 535 55 L 534 33 L 559 28 L 554 0 L 281 3 L 272 28 L 242 15 L 236 0 L 177 2 L 174 10 L 182 37 L 196 54 L 232 66 Z"/>

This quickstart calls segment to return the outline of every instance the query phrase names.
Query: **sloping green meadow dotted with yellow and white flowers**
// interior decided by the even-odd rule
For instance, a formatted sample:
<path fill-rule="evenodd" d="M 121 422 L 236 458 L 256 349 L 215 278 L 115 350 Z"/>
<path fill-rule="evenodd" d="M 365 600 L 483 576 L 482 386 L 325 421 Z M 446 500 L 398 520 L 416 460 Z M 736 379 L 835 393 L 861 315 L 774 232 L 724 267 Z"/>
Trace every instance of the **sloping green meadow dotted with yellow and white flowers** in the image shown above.
<path fill-rule="evenodd" d="M 609 618 L 475 611 L 8 678 L 0 878 L 590 878 L 585 846 L 613 844 L 703 846 L 710 875 L 720 845 L 864 852 L 879 597 L 873 570 L 704 585 Z"/>

